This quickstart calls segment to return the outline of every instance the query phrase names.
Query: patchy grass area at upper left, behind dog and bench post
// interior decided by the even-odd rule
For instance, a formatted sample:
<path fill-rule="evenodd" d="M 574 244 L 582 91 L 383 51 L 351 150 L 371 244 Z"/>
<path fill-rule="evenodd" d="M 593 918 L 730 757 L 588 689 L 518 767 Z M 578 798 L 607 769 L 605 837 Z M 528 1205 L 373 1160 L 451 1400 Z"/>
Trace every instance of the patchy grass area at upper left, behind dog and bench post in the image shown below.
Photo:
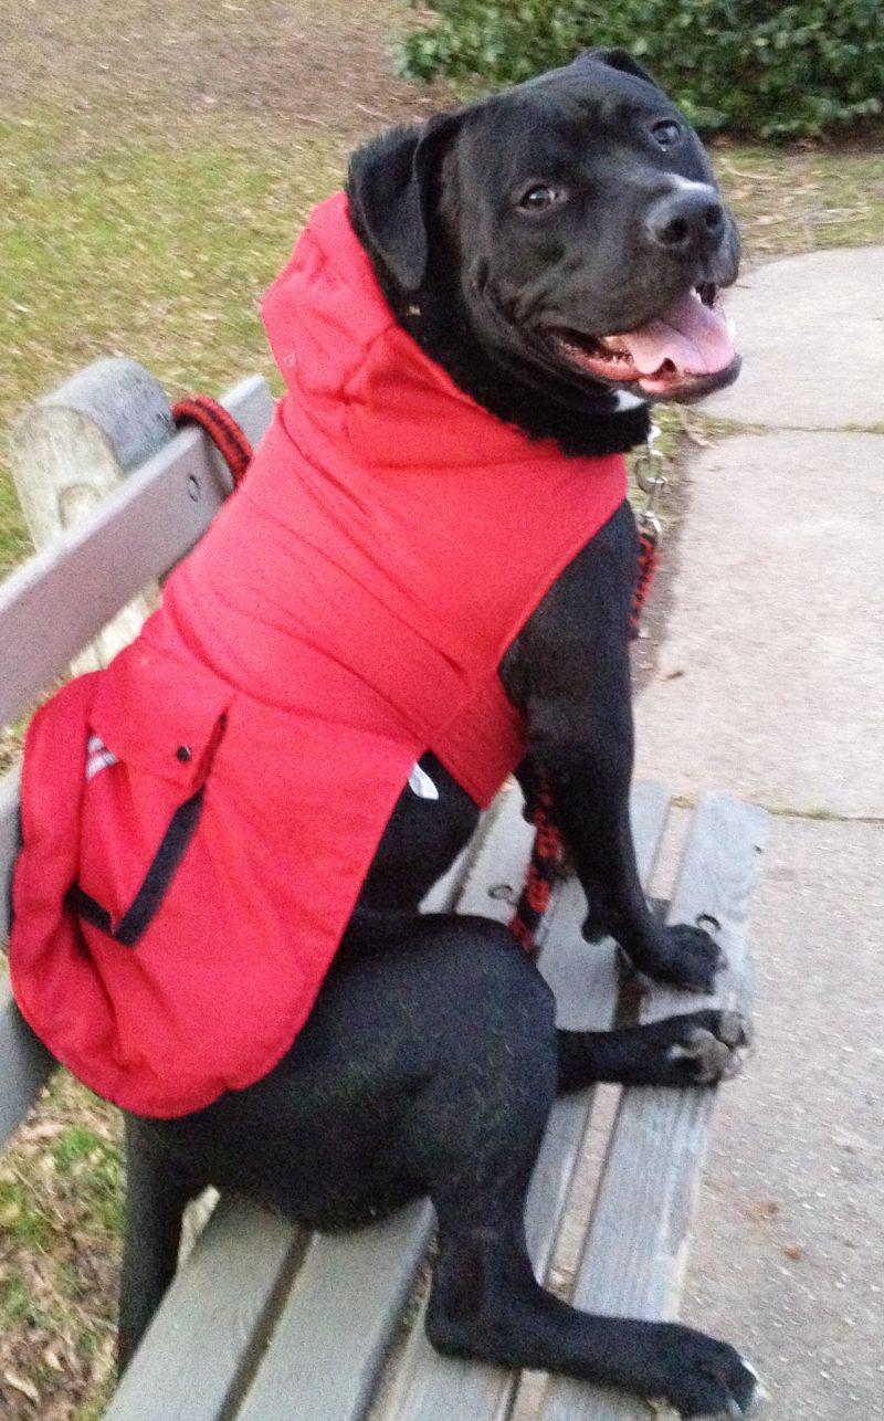
<path fill-rule="evenodd" d="M 101 355 L 270 372 L 260 297 L 368 131 L 405 0 L 0 0 L 0 428 Z M 0 450 L 0 576 L 28 550 Z"/>

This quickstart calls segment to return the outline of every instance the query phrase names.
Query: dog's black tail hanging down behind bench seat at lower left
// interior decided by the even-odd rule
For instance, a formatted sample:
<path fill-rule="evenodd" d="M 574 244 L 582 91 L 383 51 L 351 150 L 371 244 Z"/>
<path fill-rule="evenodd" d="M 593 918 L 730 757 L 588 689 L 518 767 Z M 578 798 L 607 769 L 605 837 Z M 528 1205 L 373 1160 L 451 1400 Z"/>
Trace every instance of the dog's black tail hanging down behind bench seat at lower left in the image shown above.
<path fill-rule="evenodd" d="M 159 1147 L 151 1121 L 126 1115 L 125 1128 L 126 1206 L 117 1344 L 121 1374 L 175 1276 L 185 1208 L 206 1184 Z"/>

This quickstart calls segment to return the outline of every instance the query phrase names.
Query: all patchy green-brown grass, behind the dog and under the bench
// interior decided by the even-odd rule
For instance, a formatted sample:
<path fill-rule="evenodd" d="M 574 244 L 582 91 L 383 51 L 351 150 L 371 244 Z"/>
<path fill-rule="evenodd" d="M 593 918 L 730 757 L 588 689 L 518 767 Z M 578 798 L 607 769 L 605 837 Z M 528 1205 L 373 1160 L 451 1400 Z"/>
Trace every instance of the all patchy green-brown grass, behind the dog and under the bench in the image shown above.
<path fill-rule="evenodd" d="M 361 134 L 439 101 L 387 67 L 405 13 L 176 0 L 161 23 L 153 0 L 0 0 L 1 428 L 107 354 L 172 398 L 270 372 L 260 297 L 310 206 Z M 884 152 L 722 142 L 713 159 L 752 263 L 884 242 Z M 674 458 L 682 422 L 662 423 Z M 30 546 L 1 460 L 0 574 Z M 101 1414 L 121 1199 L 117 1114 L 57 1077 L 0 1158 L 4 1421 Z"/>

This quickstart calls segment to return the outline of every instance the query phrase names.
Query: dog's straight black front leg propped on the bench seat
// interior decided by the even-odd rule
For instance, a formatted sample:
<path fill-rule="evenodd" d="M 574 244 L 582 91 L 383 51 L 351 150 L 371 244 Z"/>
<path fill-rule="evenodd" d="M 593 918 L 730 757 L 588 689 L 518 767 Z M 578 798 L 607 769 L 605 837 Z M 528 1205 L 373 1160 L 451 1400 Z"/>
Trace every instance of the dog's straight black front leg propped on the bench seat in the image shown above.
<path fill-rule="evenodd" d="M 689 924 L 664 926 L 645 899 L 630 824 L 632 706 L 628 615 L 635 526 L 614 514 L 566 568 L 505 657 L 524 712 L 529 799 L 541 780 L 590 905 L 584 934 L 611 934 L 649 976 L 708 990 L 721 962 Z"/>

